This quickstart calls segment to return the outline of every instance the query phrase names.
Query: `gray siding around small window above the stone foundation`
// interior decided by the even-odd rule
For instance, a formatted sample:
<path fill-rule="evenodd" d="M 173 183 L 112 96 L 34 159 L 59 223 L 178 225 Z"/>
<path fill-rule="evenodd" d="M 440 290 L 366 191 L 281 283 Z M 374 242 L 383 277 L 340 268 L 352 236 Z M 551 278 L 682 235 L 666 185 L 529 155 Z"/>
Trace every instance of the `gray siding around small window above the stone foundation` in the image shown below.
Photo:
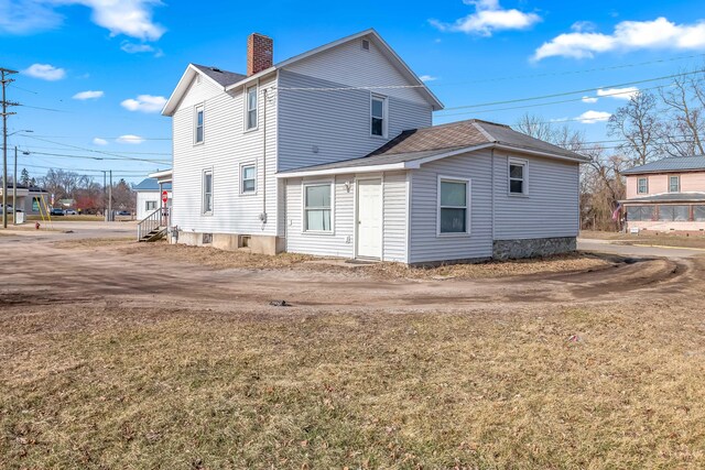
<path fill-rule="evenodd" d="M 509 195 L 509 157 L 529 163 L 529 194 Z M 579 165 L 495 152 L 495 239 L 577 237 Z"/>

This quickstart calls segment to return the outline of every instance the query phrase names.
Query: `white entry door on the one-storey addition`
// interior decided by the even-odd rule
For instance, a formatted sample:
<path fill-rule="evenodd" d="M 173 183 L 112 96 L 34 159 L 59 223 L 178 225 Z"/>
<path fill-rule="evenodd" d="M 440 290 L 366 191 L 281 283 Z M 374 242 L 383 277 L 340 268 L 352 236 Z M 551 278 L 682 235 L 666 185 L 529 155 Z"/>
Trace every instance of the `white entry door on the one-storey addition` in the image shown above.
<path fill-rule="evenodd" d="M 382 181 L 357 182 L 357 255 L 382 258 Z"/>

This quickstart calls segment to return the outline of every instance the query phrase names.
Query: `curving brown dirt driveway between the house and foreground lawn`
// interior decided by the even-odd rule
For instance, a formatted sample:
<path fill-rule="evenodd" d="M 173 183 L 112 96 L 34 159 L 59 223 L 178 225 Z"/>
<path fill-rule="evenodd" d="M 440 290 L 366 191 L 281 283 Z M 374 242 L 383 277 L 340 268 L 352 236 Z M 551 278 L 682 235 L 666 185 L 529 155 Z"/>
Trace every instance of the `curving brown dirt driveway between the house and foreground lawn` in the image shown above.
<path fill-rule="evenodd" d="M 149 250 L 135 255 L 115 247 L 66 248 L 53 240 L 0 239 L 6 280 L 0 304 L 109 300 L 228 310 L 269 309 L 270 300 L 284 299 L 311 311 L 453 311 L 473 305 L 505 310 L 519 304 L 603 303 L 650 291 L 677 294 L 702 275 L 693 260 L 634 259 L 590 272 L 503 280 L 379 280 L 344 271 L 213 270 L 149 256 Z"/>

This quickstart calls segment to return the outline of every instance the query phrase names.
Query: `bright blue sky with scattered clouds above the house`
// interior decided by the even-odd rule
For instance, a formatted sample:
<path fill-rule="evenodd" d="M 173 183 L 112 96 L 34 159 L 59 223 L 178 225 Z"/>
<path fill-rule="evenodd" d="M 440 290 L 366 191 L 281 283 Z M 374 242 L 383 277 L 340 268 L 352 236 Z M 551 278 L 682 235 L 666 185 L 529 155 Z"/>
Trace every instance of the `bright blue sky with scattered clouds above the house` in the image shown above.
<path fill-rule="evenodd" d="M 701 1 L 195 4 L 0 0 L 0 66 L 21 70 L 9 99 L 26 105 L 14 109 L 10 132 L 34 131 L 10 138 L 10 145 L 32 152 L 20 167 L 37 176 L 46 167 L 96 176 L 110 168 L 130 182 L 169 167 L 171 122 L 159 113 L 164 98 L 189 62 L 243 72 L 246 39 L 254 31 L 274 39 L 278 62 L 375 28 L 451 108 L 436 113 L 436 123 L 480 118 L 512 124 L 529 111 L 566 120 L 590 141 L 609 139 L 604 120 L 626 102 L 630 87 L 669 80 L 631 83 L 705 64 Z M 600 90 L 475 106 L 593 88 Z"/>

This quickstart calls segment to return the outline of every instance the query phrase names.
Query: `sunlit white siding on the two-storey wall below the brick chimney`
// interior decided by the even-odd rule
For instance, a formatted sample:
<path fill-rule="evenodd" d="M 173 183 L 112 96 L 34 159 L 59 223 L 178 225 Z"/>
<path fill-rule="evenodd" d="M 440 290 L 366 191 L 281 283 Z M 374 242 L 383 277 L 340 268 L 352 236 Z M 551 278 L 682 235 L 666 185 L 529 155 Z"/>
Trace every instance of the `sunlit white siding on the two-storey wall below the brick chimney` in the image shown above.
<path fill-rule="evenodd" d="M 260 83 L 273 86 L 270 78 Z M 172 118 L 173 216 L 181 230 L 212 233 L 276 233 L 276 106 L 267 102 L 267 165 L 264 165 L 265 100 L 259 94 L 259 128 L 243 132 L 242 90 L 224 92 L 207 79 L 193 83 Z M 194 145 L 195 107 L 204 105 L 204 143 Z M 240 194 L 240 165 L 257 165 L 257 194 Z M 264 168 L 267 166 L 267 174 Z M 204 170 L 213 171 L 213 214 L 202 210 Z M 264 185 L 267 184 L 267 187 Z M 265 190 L 264 190 L 265 189 Z M 259 219 L 267 199 L 268 222 Z"/>

